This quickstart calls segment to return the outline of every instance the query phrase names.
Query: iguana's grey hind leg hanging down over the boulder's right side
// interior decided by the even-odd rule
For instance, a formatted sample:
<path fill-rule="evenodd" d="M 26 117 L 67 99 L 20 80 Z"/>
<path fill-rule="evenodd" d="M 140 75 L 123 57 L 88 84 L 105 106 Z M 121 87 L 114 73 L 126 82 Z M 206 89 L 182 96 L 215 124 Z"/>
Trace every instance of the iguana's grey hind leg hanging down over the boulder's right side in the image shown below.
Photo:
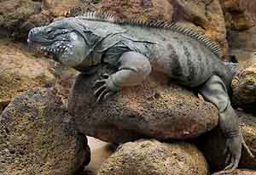
<path fill-rule="evenodd" d="M 226 160 L 229 165 L 221 173 L 236 170 L 241 158 L 242 138 L 239 130 L 238 117 L 230 104 L 230 98 L 224 82 L 219 76 L 211 76 L 200 89 L 204 99 L 215 104 L 219 112 L 219 127 L 226 138 Z"/>

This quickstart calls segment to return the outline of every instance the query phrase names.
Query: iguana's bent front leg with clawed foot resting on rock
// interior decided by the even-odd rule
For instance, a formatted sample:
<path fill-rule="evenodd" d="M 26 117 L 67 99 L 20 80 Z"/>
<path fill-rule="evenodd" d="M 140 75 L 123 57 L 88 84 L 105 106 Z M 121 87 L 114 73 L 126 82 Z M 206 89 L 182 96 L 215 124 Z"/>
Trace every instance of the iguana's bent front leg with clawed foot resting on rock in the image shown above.
<path fill-rule="evenodd" d="M 136 86 L 150 74 L 151 65 L 148 59 L 136 52 L 122 54 L 117 63 L 118 71 L 112 75 L 103 75 L 102 80 L 94 84 L 97 102 L 119 91 L 122 87 Z"/>

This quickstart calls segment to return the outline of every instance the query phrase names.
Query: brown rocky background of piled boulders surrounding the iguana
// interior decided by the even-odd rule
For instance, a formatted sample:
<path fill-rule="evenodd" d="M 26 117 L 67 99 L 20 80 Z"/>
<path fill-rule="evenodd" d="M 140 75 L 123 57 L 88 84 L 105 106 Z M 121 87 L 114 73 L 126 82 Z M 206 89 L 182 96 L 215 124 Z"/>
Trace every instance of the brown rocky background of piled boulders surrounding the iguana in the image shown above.
<path fill-rule="evenodd" d="M 240 65 L 231 99 L 256 155 L 256 1 L 0 0 L 1 175 L 192 175 L 224 167 L 224 141 L 218 128 L 212 130 L 218 111 L 197 94 L 152 75 L 141 87 L 93 106 L 88 89 L 101 72 L 78 76 L 27 48 L 33 27 L 96 10 L 122 19 L 177 22 L 211 37 L 224 55 L 235 55 Z M 113 145 L 94 138 L 88 143 L 86 136 L 120 145 L 113 153 Z M 244 152 L 240 168 L 233 174 L 256 174 L 255 159 Z"/>

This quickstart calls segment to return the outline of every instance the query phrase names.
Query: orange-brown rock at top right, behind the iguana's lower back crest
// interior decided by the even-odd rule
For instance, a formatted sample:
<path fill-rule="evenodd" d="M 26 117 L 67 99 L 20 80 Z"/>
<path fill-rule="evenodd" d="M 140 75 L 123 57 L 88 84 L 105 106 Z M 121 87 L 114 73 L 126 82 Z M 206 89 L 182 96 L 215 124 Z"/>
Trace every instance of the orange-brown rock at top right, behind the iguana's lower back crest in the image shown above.
<path fill-rule="evenodd" d="M 211 37 L 223 48 L 223 53 L 228 50 L 226 41 L 226 28 L 224 14 L 218 0 L 171 0 L 176 8 L 173 14 L 174 21 L 187 20 L 204 29 L 207 37 Z"/>

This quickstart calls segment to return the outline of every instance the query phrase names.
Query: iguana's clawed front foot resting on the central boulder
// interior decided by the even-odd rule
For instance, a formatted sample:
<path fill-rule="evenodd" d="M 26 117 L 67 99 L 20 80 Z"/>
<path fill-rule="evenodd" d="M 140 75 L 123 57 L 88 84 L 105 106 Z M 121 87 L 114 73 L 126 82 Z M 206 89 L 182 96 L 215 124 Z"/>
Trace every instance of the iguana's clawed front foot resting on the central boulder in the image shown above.
<path fill-rule="evenodd" d="M 114 84 L 113 79 L 108 74 L 102 76 L 102 80 L 97 80 L 93 88 L 96 88 L 94 95 L 96 96 L 96 104 L 102 99 L 108 99 L 109 96 L 116 93 L 119 88 Z"/>

